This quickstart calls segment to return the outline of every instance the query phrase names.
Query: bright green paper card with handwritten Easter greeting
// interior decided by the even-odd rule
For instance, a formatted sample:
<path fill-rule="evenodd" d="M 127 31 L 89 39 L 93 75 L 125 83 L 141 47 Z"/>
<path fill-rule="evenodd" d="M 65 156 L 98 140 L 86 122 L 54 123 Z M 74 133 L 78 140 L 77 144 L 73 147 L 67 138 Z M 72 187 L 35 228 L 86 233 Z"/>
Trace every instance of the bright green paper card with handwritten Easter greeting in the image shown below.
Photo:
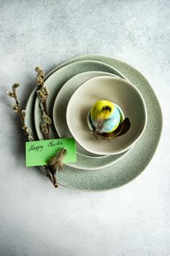
<path fill-rule="evenodd" d="M 47 165 L 47 162 L 62 148 L 66 148 L 67 151 L 63 163 L 77 161 L 74 138 L 26 142 L 26 166 Z"/>

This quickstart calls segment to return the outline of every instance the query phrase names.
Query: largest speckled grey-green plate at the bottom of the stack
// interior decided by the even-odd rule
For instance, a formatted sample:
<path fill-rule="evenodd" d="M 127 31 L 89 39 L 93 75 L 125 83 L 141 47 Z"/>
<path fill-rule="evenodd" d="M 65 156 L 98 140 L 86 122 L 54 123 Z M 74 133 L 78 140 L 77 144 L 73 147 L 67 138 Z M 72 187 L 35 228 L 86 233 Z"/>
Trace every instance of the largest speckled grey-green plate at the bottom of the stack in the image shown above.
<path fill-rule="evenodd" d="M 162 130 L 162 114 L 158 99 L 155 96 L 150 83 L 144 76 L 130 65 L 113 59 L 108 56 L 88 55 L 79 56 L 75 59 L 64 62 L 56 67 L 59 69 L 66 64 L 79 60 L 103 61 L 120 70 L 126 78 L 136 85 L 147 106 L 147 127 L 141 140 L 132 148 L 132 150 L 114 165 L 101 170 L 77 170 L 72 167 L 65 167 L 60 173 L 57 173 L 58 183 L 64 187 L 80 189 L 86 191 L 100 191 L 120 187 L 123 184 L 132 181 L 138 176 L 152 159 L 158 146 Z M 54 72 L 53 69 L 49 75 Z M 34 92 L 32 93 L 34 95 Z M 28 106 L 31 106 L 31 99 L 28 100 Z M 31 118 L 31 116 L 30 116 Z M 29 121 L 29 119 L 28 119 Z"/>

